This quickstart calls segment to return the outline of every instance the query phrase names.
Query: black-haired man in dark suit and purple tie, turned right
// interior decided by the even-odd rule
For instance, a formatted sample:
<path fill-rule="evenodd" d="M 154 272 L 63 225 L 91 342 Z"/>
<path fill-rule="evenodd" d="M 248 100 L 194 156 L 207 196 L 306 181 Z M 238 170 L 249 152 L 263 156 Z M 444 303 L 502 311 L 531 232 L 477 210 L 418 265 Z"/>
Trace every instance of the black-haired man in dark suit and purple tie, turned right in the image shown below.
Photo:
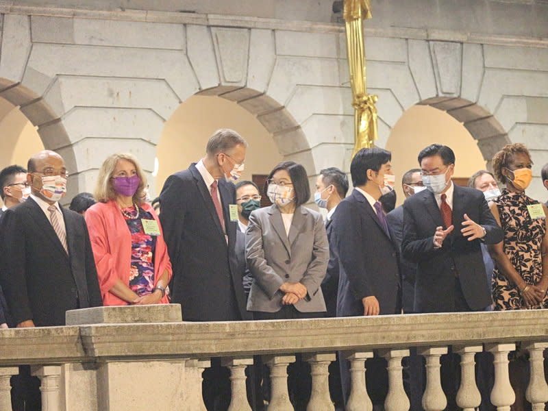
<path fill-rule="evenodd" d="M 333 219 L 339 259 L 337 316 L 369 316 L 401 312 L 397 246 L 378 201 L 392 174 L 391 154 L 383 149 L 361 149 L 354 155 L 350 173 L 354 189 L 341 201 Z M 386 361 L 367 360 L 368 391 L 375 406 L 382 406 L 388 391 Z M 341 361 L 345 401 L 349 395 L 349 366 Z"/>

